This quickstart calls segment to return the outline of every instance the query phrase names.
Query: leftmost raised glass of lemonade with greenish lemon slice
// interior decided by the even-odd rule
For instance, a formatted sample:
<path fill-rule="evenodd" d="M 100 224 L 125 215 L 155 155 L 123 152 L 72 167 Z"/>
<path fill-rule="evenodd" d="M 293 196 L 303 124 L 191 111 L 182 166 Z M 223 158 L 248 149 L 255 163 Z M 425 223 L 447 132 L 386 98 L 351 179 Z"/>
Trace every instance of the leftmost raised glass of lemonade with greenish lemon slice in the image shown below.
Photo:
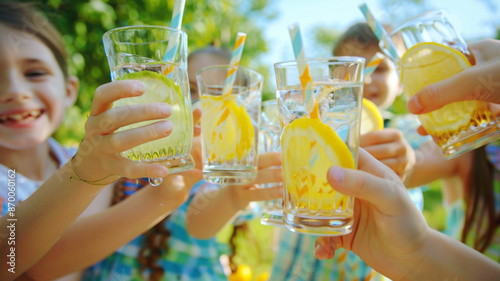
<path fill-rule="evenodd" d="M 122 156 L 164 164 L 170 173 L 192 169 L 193 115 L 187 77 L 186 33 L 161 26 L 129 26 L 106 32 L 103 42 L 111 79 L 140 80 L 146 85 L 143 95 L 120 99 L 113 107 L 160 102 L 172 106 L 172 115 L 168 118 L 173 125 L 171 135 L 124 151 Z M 171 51 L 165 56 L 167 49 Z M 157 121 L 131 124 L 118 131 Z M 158 184 L 153 179 L 150 182 Z"/>

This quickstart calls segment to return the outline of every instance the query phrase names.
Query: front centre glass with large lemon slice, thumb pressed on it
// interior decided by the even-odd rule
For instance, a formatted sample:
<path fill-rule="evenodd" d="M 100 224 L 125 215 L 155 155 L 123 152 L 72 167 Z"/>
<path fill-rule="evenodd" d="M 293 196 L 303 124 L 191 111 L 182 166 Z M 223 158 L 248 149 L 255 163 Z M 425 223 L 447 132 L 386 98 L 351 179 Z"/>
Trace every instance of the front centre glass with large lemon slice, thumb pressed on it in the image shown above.
<path fill-rule="evenodd" d="M 354 198 L 326 179 L 332 166 L 357 167 L 363 58 L 308 59 L 318 114 L 307 111 L 297 61 L 274 65 L 281 133 L 286 226 L 314 235 L 351 232 Z M 307 90 L 307 89 L 306 89 Z"/>

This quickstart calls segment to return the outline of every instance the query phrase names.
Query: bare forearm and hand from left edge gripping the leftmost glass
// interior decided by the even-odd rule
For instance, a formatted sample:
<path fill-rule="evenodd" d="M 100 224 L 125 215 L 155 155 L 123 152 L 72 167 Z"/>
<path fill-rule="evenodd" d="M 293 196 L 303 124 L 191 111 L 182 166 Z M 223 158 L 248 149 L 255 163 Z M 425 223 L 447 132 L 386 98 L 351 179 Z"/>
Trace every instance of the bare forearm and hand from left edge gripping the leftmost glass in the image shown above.
<path fill-rule="evenodd" d="M 110 109 L 113 101 L 142 95 L 144 91 L 143 83 L 133 80 L 108 83 L 96 90 L 90 117 L 85 124 L 85 137 L 74 159 L 17 206 L 15 273 L 8 271 L 11 266 L 7 264 L 7 259 L 10 260 L 7 255 L 12 252 L 14 245 L 2 240 L 1 280 L 16 278 L 47 253 L 103 187 L 94 185 L 111 183 L 118 178 L 116 175 L 139 178 L 164 177 L 168 174 L 168 170 L 160 164 L 133 162 L 119 154 L 139 144 L 168 136 L 172 130 L 169 121 L 159 121 L 115 133 L 118 128 L 128 124 L 170 116 L 172 109 L 164 104 Z M 3 234 L 0 237 L 10 235 L 7 226 L 13 222 L 8 221 L 9 218 L 0 218 L 0 235 Z"/>

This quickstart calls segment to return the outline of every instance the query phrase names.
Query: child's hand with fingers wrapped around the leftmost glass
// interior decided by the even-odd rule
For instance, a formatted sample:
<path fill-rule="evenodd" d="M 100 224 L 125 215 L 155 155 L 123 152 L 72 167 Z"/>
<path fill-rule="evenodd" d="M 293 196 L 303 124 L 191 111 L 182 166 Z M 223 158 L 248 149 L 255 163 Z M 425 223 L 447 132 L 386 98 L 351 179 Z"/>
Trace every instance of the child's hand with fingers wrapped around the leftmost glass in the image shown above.
<path fill-rule="evenodd" d="M 160 178 L 168 174 L 161 164 L 135 162 L 120 152 L 145 142 L 164 138 L 172 132 L 168 120 L 116 133 L 123 126 L 147 120 L 165 119 L 172 113 L 165 103 L 136 104 L 111 108 L 114 101 L 144 94 L 144 83 L 134 80 L 115 81 L 97 88 L 85 137 L 72 160 L 74 172 L 88 182 L 111 183 L 119 177 Z"/>

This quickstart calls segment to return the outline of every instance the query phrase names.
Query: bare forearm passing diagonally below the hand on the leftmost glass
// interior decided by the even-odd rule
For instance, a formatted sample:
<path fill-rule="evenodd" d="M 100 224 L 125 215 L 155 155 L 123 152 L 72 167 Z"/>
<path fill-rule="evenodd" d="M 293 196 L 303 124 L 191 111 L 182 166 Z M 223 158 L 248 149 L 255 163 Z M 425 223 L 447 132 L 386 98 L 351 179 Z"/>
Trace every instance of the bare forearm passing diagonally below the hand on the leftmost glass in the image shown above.
<path fill-rule="evenodd" d="M 160 186 L 148 185 L 104 212 L 77 220 L 27 274 L 53 280 L 102 260 L 177 209 L 201 178 L 200 170 L 169 175 Z"/>

